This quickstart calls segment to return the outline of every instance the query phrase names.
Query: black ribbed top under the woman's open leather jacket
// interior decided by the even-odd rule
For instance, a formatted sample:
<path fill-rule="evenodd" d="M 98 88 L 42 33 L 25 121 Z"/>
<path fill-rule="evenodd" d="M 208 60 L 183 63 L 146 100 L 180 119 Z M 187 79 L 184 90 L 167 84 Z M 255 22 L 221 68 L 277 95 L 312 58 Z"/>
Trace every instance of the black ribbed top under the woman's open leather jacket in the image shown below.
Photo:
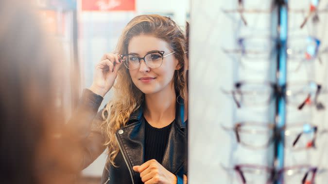
<path fill-rule="evenodd" d="M 171 125 L 174 121 L 163 128 L 151 126 L 146 119 L 145 122 L 145 162 L 155 159 L 158 163 L 162 163 Z"/>

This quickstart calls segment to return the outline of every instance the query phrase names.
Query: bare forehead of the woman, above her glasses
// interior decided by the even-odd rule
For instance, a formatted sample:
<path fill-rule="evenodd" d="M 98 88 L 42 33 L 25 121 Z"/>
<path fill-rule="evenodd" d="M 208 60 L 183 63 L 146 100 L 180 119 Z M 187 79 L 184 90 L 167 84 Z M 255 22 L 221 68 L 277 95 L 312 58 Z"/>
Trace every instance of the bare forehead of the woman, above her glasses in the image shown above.
<path fill-rule="evenodd" d="M 145 55 L 152 50 L 169 52 L 170 46 L 160 38 L 144 34 L 132 37 L 128 45 L 128 53 Z"/>

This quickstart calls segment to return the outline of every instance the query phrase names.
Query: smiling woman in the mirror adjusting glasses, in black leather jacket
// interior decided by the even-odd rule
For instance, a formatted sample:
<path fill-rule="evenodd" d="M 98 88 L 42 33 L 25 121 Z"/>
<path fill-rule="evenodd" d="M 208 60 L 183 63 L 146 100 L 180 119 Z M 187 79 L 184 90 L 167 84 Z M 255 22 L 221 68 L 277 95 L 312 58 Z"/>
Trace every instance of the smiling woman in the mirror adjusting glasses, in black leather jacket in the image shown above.
<path fill-rule="evenodd" d="M 186 183 L 186 52 L 184 33 L 168 17 L 127 24 L 119 55 L 103 56 L 68 123 L 85 147 L 82 168 L 108 148 L 102 183 Z M 97 114 L 115 80 L 113 100 Z"/>

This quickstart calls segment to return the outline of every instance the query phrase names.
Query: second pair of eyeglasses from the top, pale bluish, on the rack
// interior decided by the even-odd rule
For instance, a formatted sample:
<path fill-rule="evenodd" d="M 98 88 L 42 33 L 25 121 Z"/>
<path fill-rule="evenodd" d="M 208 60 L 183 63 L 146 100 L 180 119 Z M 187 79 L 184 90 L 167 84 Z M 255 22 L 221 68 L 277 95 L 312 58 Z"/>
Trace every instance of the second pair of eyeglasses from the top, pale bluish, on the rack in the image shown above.
<path fill-rule="evenodd" d="M 237 39 L 237 49 L 225 49 L 226 54 L 235 54 L 247 62 L 268 62 L 276 54 L 276 39 L 270 36 L 241 37 Z M 303 63 L 322 63 L 321 56 L 328 53 L 328 47 L 321 49 L 321 40 L 313 36 L 293 36 L 288 40 L 286 53 L 289 62 L 287 69 L 298 71 Z M 258 63 L 257 63 L 258 64 Z M 255 67 L 255 66 L 254 66 Z"/>

